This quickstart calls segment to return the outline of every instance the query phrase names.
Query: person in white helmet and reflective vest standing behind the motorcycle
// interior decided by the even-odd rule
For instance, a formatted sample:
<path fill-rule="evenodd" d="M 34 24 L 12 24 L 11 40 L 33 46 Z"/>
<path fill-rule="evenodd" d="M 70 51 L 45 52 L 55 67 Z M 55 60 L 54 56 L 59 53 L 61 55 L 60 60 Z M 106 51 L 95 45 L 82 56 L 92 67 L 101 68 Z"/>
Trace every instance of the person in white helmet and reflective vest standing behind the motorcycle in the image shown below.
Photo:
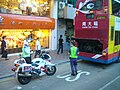
<path fill-rule="evenodd" d="M 22 57 L 25 59 L 27 64 L 31 64 L 31 53 L 30 53 L 30 39 L 29 37 L 24 40 L 24 45 L 22 47 Z"/>

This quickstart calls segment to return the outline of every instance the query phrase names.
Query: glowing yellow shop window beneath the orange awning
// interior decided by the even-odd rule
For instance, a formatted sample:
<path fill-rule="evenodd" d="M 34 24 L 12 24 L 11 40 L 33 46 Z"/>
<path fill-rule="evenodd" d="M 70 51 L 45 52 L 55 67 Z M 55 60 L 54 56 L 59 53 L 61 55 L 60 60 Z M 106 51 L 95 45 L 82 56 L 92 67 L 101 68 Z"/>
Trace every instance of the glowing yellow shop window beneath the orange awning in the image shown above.
<path fill-rule="evenodd" d="M 49 30 L 32 30 L 32 29 L 7 30 L 6 29 L 0 31 L 0 36 L 1 36 L 0 40 L 2 40 L 2 36 L 6 36 L 8 49 L 22 48 L 23 41 L 29 35 L 32 35 L 32 42 L 30 43 L 32 49 L 35 49 L 36 38 L 40 38 L 40 43 L 42 47 L 49 48 L 49 35 L 50 35 L 49 33 L 50 33 Z"/>

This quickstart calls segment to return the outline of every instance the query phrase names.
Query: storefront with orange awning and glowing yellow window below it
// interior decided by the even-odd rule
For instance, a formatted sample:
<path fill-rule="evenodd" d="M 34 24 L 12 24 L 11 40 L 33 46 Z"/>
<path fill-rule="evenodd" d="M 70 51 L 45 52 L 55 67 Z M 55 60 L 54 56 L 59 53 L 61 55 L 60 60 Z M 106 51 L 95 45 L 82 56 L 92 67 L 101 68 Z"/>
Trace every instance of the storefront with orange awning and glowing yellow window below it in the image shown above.
<path fill-rule="evenodd" d="M 47 17 L 0 14 L 0 40 L 7 36 L 9 53 L 21 51 L 24 39 L 32 36 L 31 48 L 35 47 L 35 39 L 40 38 L 41 45 L 50 45 L 51 30 L 55 28 L 55 20 Z"/>

